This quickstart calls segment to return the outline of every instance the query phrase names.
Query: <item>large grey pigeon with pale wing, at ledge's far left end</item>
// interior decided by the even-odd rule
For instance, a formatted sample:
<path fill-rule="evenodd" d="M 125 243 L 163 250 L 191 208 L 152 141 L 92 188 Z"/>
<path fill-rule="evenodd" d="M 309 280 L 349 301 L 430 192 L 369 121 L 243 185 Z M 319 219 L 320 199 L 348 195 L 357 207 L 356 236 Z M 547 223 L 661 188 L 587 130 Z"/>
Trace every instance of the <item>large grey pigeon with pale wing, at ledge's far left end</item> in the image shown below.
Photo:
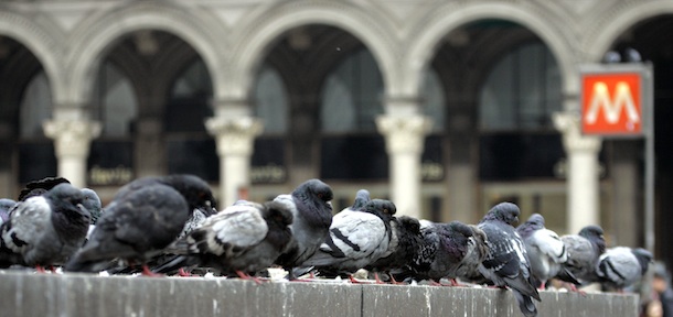
<path fill-rule="evenodd" d="M 74 254 L 84 243 L 90 223 L 83 200 L 79 188 L 61 183 L 18 203 L 1 228 L 2 249 L 21 255 L 21 263 L 13 264 L 42 270 L 60 265 Z"/>

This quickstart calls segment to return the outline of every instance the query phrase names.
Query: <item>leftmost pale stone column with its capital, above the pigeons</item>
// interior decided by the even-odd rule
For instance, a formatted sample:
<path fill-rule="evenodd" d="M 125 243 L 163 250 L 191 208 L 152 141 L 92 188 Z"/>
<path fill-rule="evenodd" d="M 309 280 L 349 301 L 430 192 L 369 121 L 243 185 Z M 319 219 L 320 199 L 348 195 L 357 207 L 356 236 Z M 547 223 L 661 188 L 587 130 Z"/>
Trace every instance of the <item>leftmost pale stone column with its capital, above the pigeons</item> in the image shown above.
<path fill-rule="evenodd" d="M 54 139 L 58 175 L 74 186 L 86 186 L 86 160 L 92 140 L 100 135 L 102 124 L 86 119 L 56 119 L 42 124 L 44 134 Z"/>

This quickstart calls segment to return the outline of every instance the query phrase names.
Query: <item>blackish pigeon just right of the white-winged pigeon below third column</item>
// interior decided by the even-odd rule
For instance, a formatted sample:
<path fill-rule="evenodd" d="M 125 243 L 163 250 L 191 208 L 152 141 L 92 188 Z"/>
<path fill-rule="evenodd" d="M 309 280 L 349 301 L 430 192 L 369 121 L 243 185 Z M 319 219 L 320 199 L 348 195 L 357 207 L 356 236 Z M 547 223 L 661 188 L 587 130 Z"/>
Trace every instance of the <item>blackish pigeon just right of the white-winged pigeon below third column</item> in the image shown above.
<path fill-rule="evenodd" d="M 391 228 L 393 237 L 386 251 L 388 255 L 382 256 L 365 269 L 374 272 L 388 272 L 392 282 L 396 283 L 393 274 L 408 271 L 416 250 L 423 243 L 423 236 L 420 233 L 420 222 L 409 216 L 393 218 Z"/>

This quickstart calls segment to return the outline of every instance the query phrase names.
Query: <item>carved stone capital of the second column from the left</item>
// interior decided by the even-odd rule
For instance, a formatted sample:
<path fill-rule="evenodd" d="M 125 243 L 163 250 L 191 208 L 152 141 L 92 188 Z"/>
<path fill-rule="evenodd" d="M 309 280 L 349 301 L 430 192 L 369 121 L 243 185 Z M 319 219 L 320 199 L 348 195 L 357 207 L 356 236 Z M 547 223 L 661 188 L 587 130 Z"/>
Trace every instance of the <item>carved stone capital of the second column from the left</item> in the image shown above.
<path fill-rule="evenodd" d="M 212 117 L 205 120 L 205 128 L 216 138 L 220 155 L 250 155 L 253 141 L 261 134 L 261 120 L 253 117 Z"/>

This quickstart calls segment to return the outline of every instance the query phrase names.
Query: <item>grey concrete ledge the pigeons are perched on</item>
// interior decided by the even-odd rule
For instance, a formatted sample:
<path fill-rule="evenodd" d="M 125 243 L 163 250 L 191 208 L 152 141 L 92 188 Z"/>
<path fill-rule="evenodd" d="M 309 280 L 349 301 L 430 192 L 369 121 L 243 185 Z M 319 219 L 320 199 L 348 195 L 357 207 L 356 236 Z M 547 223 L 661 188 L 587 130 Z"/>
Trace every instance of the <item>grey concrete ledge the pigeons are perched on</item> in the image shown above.
<path fill-rule="evenodd" d="M 538 316 L 638 316 L 638 296 L 542 292 Z M 2 316 L 522 316 L 509 291 L 0 271 Z"/>

